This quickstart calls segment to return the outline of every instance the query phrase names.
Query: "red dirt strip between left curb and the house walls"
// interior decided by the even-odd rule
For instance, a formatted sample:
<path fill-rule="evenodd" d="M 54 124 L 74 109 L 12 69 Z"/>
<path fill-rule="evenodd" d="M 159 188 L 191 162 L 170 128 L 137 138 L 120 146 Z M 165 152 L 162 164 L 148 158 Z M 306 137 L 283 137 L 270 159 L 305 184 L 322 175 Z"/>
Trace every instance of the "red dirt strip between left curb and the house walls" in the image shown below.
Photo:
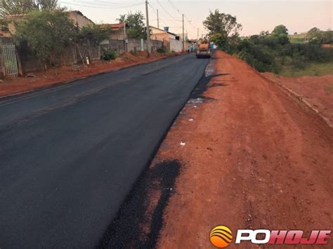
<path fill-rule="evenodd" d="M 173 56 L 173 55 L 168 55 Z M 139 65 L 145 62 L 153 62 L 165 58 L 166 55 L 152 54 L 147 58 L 147 53 L 137 52 L 137 55 L 126 53 L 111 62 L 93 62 L 89 67 L 61 67 L 58 69 L 49 69 L 48 72 L 39 72 L 28 78 L 6 79 L 0 83 L 0 97 L 25 93 L 38 88 L 51 86 L 57 83 L 68 83 L 75 79 L 92 76 L 95 74 L 110 72 L 123 67 Z"/>

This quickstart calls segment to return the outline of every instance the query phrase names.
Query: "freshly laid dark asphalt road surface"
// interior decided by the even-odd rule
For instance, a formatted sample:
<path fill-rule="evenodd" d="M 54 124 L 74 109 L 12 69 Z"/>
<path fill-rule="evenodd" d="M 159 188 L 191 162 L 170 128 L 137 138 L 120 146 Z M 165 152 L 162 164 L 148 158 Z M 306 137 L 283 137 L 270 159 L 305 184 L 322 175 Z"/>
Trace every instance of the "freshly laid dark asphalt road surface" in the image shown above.
<path fill-rule="evenodd" d="M 208 60 L 183 55 L 0 100 L 0 248 L 92 248 Z"/>

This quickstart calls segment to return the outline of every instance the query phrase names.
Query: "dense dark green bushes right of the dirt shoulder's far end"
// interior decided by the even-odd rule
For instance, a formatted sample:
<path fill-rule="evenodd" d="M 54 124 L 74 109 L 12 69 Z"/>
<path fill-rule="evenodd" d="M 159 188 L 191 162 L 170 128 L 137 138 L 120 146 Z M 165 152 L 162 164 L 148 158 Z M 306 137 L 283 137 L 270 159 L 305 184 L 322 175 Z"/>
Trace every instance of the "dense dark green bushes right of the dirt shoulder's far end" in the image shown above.
<path fill-rule="evenodd" d="M 232 53 L 259 72 L 279 73 L 284 66 L 304 69 L 311 62 L 333 62 L 333 49 L 315 43 L 290 43 L 285 34 L 254 35 L 239 40 Z"/>

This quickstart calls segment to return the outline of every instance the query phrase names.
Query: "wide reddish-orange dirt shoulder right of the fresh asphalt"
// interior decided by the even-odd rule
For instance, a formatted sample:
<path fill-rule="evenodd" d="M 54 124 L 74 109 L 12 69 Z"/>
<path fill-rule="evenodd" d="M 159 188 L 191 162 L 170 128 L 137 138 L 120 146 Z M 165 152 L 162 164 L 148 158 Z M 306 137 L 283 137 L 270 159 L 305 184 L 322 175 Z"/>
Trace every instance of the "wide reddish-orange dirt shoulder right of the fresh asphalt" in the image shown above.
<path fill-rule="evenodd" d="M 241 60 L 216 56 L 210 99 L 185 107 L 152 163 L 183 165 L 158 247 L 213 248 L 217 225 L 333 229 L 333 130 Z"/>

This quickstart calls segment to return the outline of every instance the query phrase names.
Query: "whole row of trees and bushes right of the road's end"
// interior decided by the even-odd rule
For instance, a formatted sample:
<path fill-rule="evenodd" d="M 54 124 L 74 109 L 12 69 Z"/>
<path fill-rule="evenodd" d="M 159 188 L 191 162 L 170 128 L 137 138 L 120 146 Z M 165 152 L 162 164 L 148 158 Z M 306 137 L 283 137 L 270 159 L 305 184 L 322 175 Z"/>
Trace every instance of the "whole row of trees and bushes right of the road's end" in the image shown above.
<path fill-rule="evenodd" d="M 291 43 L 285 25 L 278 25 L 271 33 L 240 37 L 242 25 L 237 18 L 218 10 L 203 23 L 218 48 L 237 55 L 259 72 L 279 73 L 286 66 L 304 68 L 310 62 L 333 62 L 333 49 L 322 48 L 322 43 L 333 43 L 332 31 L 314 28 L 307 34 L 307 43 Z"/>

